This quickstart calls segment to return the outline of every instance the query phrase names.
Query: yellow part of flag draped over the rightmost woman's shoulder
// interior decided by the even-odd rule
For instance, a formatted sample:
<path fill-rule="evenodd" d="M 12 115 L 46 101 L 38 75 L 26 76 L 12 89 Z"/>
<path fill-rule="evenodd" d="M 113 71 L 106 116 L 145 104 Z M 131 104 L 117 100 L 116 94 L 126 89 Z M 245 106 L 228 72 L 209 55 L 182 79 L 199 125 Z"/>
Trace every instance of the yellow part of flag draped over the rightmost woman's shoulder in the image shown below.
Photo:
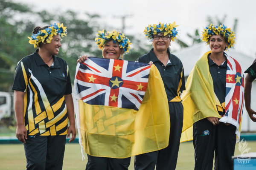
<path fill-rule="evenodd" d="M 193 123 L 206 117 L 221 116 L 216 108 L 219 101 L 213 90 L 212 76 L 209 72 L 208 51 L 199 59 L 186 82 L 186 91 L 181 99 L 184 107 L 183 128 L 180 142 L 193 140 Z"/>

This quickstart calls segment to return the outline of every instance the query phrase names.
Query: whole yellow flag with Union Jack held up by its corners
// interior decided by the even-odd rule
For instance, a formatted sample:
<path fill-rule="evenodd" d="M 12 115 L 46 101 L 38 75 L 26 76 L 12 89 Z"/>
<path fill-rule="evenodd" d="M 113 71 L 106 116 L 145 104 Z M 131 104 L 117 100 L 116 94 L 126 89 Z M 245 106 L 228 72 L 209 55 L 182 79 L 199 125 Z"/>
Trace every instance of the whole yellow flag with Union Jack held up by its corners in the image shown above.
<path fill-rule="evenodd" d="M 87 154 L 126 158 L 168 146 L 168 100 L 154 65 L 89 57 L 77 65 L 75 91 Z"/>

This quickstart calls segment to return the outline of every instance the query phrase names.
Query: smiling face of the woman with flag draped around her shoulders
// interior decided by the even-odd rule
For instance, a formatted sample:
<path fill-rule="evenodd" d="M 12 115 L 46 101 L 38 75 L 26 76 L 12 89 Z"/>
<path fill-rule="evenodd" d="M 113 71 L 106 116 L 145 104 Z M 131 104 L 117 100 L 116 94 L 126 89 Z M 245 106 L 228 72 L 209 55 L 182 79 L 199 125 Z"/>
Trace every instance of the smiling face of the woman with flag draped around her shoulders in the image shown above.
<path fill-rule="evenodd" d="M 212 53 L 223 53 L 228 43 L 222 35 L 212 35 L 209 40 Z"/>

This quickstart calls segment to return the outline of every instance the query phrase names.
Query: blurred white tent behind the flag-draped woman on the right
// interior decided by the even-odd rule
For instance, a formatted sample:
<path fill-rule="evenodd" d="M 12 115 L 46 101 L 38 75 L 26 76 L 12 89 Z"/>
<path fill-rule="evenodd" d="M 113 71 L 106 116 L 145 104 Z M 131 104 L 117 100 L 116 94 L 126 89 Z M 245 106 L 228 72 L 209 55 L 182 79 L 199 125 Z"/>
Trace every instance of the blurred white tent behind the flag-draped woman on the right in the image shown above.
<path fill-rule="evenodd" d="M 200 59 L 203 56 L 203 54 L 206 53 L 207 51 L 210 51 L 209 45 L 206 46 L 205 43 L 202 42 L 202 43 L 193 45 L 188 48 L 183 48 L 180 51 L 172 53 L 177 57 L 179 57 L 181 62 L 183 63 L 185 81 L 189 76 L 189 73 L 192 71 L 192 68 L 194 67 L 195 62 L 197 62 L 198 59 Z M 245 71 L 253 63 L 253 60 L 254 60 L 253 57 L 244 55 L 231 48 L 226 53 L 239 62 L 243 71 Z M 253 81 L 252 99 L 251 99 L 251 107 L 253 108 L 254 111 L 256 111 L 256 105 L 254 104 L 256 103 L 256 95 L 253 95 L 253 94 L 256 94 L 256 81 Z M 249 118 L 245 107 L 244 107 L 241 131 L 256 132 L 256 123 Z"/>

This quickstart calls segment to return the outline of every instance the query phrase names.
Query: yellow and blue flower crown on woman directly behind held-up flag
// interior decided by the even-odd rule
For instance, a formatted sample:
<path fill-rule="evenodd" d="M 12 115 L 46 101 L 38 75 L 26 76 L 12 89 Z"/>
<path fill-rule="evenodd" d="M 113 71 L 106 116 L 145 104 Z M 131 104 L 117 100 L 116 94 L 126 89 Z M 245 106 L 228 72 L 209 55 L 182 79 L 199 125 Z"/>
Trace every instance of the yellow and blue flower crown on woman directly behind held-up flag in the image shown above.
<path fill-rule="evenodd" d="M 98 31 L 95 42 L 98 45 L 99 49 L 103 51 L 104 45 L 106 42 L 113 40 L 113 43 L 119 42 L 119 47 L 124 48 L 125 53 L 129 52 L 131 41 L 125 37 L 125 34 L 121 34 L 116 30 L 111 32 L 106 32 L 106 30 Z"/>

